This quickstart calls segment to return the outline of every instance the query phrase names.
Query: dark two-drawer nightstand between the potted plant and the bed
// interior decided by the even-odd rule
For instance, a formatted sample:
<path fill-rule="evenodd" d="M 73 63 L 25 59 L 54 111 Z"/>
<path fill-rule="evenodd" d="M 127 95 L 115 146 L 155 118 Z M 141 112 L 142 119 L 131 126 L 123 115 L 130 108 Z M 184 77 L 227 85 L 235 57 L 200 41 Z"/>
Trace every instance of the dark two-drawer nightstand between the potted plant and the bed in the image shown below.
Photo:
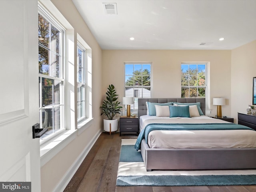
<path fill-rule="evenodd" d="M 138 117 L 120 117 L 120 136 L 122 132 L 139 132 L 139 120 Z"/>

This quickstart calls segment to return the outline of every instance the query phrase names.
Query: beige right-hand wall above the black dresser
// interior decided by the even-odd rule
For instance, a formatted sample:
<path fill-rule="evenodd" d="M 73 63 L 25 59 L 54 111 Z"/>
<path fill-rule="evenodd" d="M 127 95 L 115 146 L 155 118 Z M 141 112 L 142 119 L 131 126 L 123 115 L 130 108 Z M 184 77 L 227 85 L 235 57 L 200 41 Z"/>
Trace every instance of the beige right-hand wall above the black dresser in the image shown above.
<path fill-rule="evenodd" d="M 232 50 L 231 114 L 246 113 L 252 104 L 252 77 L 256 76 L 256 40 Z"/>

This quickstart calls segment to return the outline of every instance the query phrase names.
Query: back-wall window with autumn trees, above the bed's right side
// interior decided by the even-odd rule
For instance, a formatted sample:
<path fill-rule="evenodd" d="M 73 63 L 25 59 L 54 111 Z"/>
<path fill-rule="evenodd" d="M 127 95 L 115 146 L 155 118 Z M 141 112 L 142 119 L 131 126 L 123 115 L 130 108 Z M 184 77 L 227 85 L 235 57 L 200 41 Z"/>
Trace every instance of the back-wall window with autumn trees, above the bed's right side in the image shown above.
<path fill-rule="evenodd" d="M 181 64 L 181 97 L 206 97 L 206 63 Z"/>

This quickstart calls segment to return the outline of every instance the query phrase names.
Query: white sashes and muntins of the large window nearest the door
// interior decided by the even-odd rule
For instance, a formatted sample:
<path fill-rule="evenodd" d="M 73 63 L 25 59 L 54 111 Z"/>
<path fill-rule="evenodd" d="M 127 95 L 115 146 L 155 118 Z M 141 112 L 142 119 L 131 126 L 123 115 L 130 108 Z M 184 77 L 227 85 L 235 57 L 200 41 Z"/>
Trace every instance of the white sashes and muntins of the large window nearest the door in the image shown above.
<path fill-rule="evenodd" d="M 48 61 L 46 61 L 46 64 L 49 65 L 47 66 L 49 68 L 48 73 L 42 74 L 39 71 L 40 128 L 48 128 L 46 134 L 41 137 L 44 138 L 64 129 L 64 62 L 62 57 L 64 30 L 60 28 L 60 26 L 54 22 L 54 19 L 49 17 L 49 14 L 46 14 L 42 8 L 39 8 L 38 14 L 44 18 L 45 22 L 48 22 L 50 41 L 47 47 L 38 40 L 39 48 L 48 52 Z M 55 37 L 57 39 L 55 37 L 52 39 L 52 36 L 50 36 L 52 28 L 56 28 L 58 35 Z M 52 40 L 55 42 L 53 43 Z M 54 67 L 53 70 L 51 70 L 52 66 Z M 43 85 L 43 83 L 46 85 Z M 48 92 L 46 93 L 45 91 Z M 43 92 L 44 96 L 42 95 Z M 45 98 L 45 96 L 47 96 L 47 98 Z M 48 102 L 46 102 L 45 99 L 47 99 Z M 46 106 L 43 104 L 46 104 Z"/>

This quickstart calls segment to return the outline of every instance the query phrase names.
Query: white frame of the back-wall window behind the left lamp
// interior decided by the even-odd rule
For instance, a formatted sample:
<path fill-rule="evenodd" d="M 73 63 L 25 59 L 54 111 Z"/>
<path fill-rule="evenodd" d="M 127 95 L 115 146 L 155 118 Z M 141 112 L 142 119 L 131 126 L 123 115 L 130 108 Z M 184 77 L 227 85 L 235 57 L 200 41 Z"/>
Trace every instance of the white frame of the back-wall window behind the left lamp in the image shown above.
<path fill-rule="evenodd" d="M 125 71 L 125 66 L 126 65 L 133 65 L 133 72 L 134 72 L 134 65 L 136 64 L 141 64 L 142 66 L 143 65 L 150 65 L 150 86 L 126 86 L 126 71 Z M 143 67 L 142 67 L 143 69 Z M 152 62 L 124 62 L 124 96 L 128 96 L 126 95 L 126 88 L 133 88 L 134 91 L 133 91 L 133 97 L 134 97 L 134 104 L 133 105 L 130 105 L 131 107 L 131 110 L 133 113 L 137 113 L 137 110 L 138 110 L 138 98 L 151 98 L 151 95 L 152 95 Z M 140 96 L 136 96 L 135 97 L 135 89 L 136 88 L 150 88 L 150 95 L 149 96 L 144 96 L 143 95 L 143 92 L 141 93 L 142 95 Z M 126 106 L 125 106 L 126 107 Z"/>

